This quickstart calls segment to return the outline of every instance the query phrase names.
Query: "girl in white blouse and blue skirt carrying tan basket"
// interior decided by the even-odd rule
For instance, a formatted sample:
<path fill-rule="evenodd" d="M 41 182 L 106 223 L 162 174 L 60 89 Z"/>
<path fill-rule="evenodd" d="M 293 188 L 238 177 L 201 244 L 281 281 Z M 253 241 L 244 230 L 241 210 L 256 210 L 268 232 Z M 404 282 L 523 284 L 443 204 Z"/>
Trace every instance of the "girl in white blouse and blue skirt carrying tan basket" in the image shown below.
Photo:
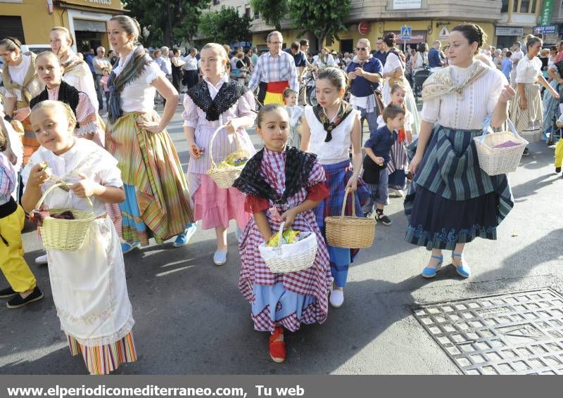
<path fill-rule="evenodd" d="M 326 185 L 330 197 L 315 207 L 317 224 L 326 238 L 324 219 L 341 214 L 346 191 L 357 191 L 355 202 L 348 200 L 346 215 L 362 214 L 362 205 L 369 200 L 369 189 L 359 179 L 362 170 L 362 144 L 360 111 L 343 101 L 346 89 L 346 74 L 337 68 L 324 68 L 316 82 L 319 104 L 305 107 L 301 148 L 315 153 L 327 173 Z M 350 147 L 352 164 L 350 165 Z M 328 245 L 330 266 L 334 276 L 334 288 L 331 289 L 330 303 L 341 307 L 344 302 L 343 289 L 348 278 L 348 267 L 358 249 L 334 248 Z"/>

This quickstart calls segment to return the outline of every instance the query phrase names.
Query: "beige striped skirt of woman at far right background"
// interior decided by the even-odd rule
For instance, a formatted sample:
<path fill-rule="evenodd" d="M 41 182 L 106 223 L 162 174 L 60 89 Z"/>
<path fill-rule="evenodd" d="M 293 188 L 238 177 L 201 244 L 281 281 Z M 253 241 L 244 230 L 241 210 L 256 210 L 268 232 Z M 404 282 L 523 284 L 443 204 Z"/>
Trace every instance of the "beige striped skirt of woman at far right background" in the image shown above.
<path fill-rule="evenodd" d="M 520 108 L 520 91 L 516 91 L 516 96 L 510 103 L 510 120 L 514 123 L 517 131 L 522 134 L 524 131 L 535 131 L 542 128 L 543 124 L 543 103 L 540 96 L 539 84 L 524 84 L 524 93 L 528 101 L 526 110 Z M 525 133 L 524 133 L 525 134 Z"/>

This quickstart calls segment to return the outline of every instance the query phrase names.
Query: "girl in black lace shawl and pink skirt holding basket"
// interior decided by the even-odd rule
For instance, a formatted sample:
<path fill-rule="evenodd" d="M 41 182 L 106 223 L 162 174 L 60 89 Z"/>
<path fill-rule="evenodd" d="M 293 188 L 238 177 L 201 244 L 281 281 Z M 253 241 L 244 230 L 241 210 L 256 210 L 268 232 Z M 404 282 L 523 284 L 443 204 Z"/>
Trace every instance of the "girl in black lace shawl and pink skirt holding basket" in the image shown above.
<path fill-rule="evenodd" d="M 227 229 L 236 220 L 244 229 L 251 214 L 244 210 L 244 195 L 236 188 L 219 188 L 206 174 L 210 156 L 219 164 L 237 149 L 248 158 L 255 150 L 245 127 L 254 123 L 254 96 L 243 84 L 229 79 L 225 72 L 227 52 L 220 44 L 209 43 L 201 49 L 203 80 L 184 96 L 184 135 L 188 141 L 188 183 L 195 205 L 195 219 L 203 229 L 215 229 L 217 251 L 213 262 L 227 262 Z M 211 147 L 213 145 L 213 148 Z"/>

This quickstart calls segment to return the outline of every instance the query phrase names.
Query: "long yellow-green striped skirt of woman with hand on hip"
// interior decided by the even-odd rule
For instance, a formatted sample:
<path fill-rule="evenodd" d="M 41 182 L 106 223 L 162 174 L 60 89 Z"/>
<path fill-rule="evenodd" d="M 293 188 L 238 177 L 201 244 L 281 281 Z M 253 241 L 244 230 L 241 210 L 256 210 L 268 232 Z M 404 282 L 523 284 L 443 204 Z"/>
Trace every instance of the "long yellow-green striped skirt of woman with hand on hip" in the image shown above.
<path fill-rule="evenodd" d="M 106 148 L 118 160 L 127 198 L 120 205 L 122 237 L 148 245 L 182 233 L 194 221 L 188 184 L 167 131 L 140 129 L 137 120 L 158 121 L 153 113 L 126 113 L 106 130 Z"/>

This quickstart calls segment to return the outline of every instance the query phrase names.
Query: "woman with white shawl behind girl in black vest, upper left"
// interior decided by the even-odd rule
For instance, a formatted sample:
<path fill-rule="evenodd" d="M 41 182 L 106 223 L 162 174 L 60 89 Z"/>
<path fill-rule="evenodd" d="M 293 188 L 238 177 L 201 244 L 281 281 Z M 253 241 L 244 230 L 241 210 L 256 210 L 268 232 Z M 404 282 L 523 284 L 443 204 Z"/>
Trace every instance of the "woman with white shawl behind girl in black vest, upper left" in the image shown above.
<path fill-rule="evenodd" d="M 99 109 L 94 77 L 92 77 L 92 72 L 88 64 L 78 58 L 74 51 L 72 51 L 72 44 L 74 44 L 72 34 L 70 34 L 66 27 L 53 27 L 49 34 L 49 42 L 51 44 L 51 50 L 56 54 L 63 68 L 65 68 L 63 72 L 64 81 L 78 91 L 86 93 L 94 109 Z M 98 122 L 101 122 L 101 125 L 105 127 L 100 117 L 98 118 Z"/>

